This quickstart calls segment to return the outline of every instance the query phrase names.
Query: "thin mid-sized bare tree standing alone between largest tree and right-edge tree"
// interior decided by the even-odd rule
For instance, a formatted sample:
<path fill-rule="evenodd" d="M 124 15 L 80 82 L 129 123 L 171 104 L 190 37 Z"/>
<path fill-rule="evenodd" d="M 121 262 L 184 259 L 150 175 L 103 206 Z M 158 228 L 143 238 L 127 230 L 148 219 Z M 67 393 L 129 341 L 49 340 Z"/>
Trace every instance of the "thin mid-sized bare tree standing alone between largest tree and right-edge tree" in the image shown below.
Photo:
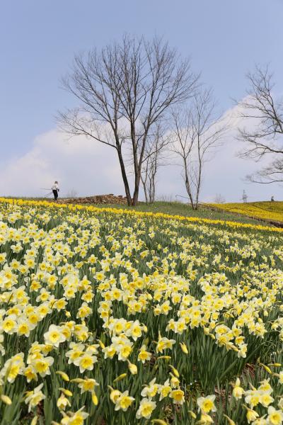
<path fill-rule="evenodd" d="M 198 208 L 204 163 L 223 142 L 227 124 L 216 118 L 211 90 L 202 90 L 192 98 L 185 111 L 173 113 L 174 152 L 181 158 L 183 179 L 192 209 Z"/>

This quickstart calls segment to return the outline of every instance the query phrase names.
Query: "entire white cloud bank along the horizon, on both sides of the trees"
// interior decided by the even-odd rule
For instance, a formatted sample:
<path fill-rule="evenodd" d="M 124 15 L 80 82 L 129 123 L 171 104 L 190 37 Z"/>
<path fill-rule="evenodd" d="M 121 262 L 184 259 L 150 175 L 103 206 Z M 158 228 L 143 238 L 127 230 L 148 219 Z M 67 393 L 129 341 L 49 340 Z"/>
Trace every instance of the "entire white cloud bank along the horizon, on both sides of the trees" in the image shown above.
<path fill-rule="evenodd" d="M 235 112 L 233 108 L 225 114 L 226 119 L 233 120 L 233 128 L 226 135 L 224 147 L 205 166 L 200 199 L 212 201 L 216 193 L 221 193 L 227 202 L 236 202 L 245 188 L 251 201 L 268 200 L 271 195 L 279 200 L 282 198 L 279 185 L 248 185 L 243 181 L 260 164 L 236 157 L 241 147 L 234 138 L 238 125 Z M 173 199 L 175 195 L 185 196 L 180 173 L 179 166 L 161 167 L 158 196 Z M 115 149 L 83 136 L 67 140 L 61 132 L 51 130 L 37 136 L 33 148 L 25 155 L 1 164 L 0 196 L 44 196 L 47 192 L 40 188 L 49 188 L 54 180 L 59 181 L 62 196 L 72 189 L 80 196 L 125 193 Z M 143 198 L 142 188 L 140 198 Z"/>

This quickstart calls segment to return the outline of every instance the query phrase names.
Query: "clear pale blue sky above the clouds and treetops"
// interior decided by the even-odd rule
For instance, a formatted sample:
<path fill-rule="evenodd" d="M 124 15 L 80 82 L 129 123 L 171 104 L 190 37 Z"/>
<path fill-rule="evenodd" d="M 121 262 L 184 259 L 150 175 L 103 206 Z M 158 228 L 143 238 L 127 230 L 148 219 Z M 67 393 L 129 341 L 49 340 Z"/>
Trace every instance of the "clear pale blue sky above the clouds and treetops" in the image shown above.
<path fill-rule="evenodd" d="M 283 91 L 282 21 L 282 0 L 2 0 L 1 166 L 27 154 L 55 128 L 57 110 L 74 104 L 59 88 L 74 52 L 125 32 L 163 35 L 191 57 L 226 111 L 244 96 L 255 62 L 271 62 Z"/>

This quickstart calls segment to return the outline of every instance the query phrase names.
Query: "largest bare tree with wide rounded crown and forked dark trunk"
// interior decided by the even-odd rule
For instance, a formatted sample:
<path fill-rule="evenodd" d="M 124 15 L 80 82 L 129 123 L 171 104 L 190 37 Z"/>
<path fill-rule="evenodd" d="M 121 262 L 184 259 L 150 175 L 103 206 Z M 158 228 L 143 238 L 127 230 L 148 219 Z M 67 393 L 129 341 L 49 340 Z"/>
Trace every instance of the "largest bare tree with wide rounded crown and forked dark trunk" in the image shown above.
<path fill-rule="evenodd" d="M 76 55 L 63 86 L 80 102 L 59 113 L 59 125 L 70 135 L 86 135 L 116 149 L 127 202 L 137 205 L 141 167 L 152 125 L 165 118 L 168 108 L 192 96 L 198 76 L 188 60 L 160 38 L 125 35 L 101 52 Z M 123 149 L 127 145 L 134 168 L 131 196 Z"/>

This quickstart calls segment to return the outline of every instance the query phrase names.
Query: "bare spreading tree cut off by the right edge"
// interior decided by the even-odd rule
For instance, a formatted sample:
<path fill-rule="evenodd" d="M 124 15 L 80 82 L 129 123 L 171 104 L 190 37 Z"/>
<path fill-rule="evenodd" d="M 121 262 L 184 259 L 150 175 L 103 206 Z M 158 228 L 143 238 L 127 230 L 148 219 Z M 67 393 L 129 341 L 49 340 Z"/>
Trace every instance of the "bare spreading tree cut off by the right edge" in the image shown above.
<path fill-rule="evenodd" d="M 283 180 L 283 99 L 275 98 L 272 90 L 275 86 L 273 75 L 268 66 L 255 67 L 248 74 L 250 88 L 247 97 L 239 103 L 243 123 L 253 120 L 253 126 L 238 129 L 238 140 L 246 148 L 240 156 L 260 161 L 270 155 L 268 166 L 248 176 L 256 183 L 275 183 Z M 254 123 L 256 125 L 254 126 Z"/>

